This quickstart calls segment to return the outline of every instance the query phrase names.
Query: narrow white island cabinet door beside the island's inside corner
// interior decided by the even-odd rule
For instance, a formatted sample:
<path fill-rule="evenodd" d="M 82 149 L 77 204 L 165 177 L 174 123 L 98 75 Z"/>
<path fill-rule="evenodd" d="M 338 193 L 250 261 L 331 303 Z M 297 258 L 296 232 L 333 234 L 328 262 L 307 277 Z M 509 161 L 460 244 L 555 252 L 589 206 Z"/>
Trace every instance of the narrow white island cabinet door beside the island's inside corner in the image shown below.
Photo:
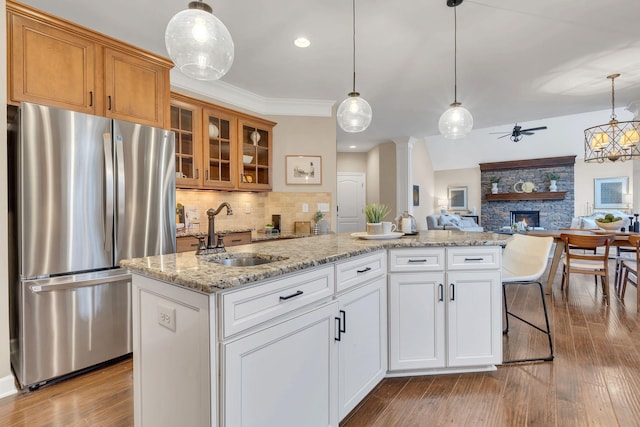
<path fill-rule="evenodd" d="M 338 300 L 338 396 L 342 420 L 387 373 L 386 275 Z"/>

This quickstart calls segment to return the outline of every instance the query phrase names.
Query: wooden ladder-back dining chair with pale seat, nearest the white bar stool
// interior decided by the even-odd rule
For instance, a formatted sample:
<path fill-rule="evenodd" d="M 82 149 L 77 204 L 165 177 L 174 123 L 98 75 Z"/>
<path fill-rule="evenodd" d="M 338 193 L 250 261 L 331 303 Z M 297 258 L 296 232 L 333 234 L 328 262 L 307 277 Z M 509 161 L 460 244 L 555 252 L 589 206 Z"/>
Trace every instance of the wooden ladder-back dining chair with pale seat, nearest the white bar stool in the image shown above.
<path fill-rule="evenodd" d="M 598 277 L 602 284 L 602 292 L 609 304 L 609 247 L 614 240 L 613 234 L 573 234 L 562 233 L 560 238 L 565 246 L 562 258 L 562 283 L 560 289 L 565 296 L 569 296 L 569 282 L 572 273 L 593 275 L 598 287 Z M 576 252 L 580 248 L 582 252 Z M 598 248 L 604 248 L 604 253 L 598 253 Z M 586 253 L 592 250 L 593 253 Z M 566 284 L 566 286 L 565 286 Z"/>

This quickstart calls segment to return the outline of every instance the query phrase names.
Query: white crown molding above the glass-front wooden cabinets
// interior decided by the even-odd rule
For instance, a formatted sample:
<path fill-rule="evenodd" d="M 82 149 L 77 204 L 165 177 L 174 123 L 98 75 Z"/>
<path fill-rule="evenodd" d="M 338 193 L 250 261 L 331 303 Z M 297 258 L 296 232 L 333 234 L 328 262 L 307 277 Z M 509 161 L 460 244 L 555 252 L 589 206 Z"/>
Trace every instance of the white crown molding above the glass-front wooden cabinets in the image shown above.
<path fill-rule="evenodd" d="M 321 99 L 266 98 L 220 80 L 202 81 L 171 70 L 172 90 L 186 90 L 262 115 L 332 117 L 336 101 Z"/>

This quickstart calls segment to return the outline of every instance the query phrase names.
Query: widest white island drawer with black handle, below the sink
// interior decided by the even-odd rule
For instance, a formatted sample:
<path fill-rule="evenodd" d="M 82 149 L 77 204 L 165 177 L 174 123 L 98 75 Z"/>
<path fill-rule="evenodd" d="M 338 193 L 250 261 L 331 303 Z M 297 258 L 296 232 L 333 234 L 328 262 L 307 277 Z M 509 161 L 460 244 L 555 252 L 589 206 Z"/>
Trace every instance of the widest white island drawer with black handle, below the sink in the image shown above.
<path fill-rule="evenodd" d="M 223 338 L 333 295 L 333 266 L 223 293 Z"/>

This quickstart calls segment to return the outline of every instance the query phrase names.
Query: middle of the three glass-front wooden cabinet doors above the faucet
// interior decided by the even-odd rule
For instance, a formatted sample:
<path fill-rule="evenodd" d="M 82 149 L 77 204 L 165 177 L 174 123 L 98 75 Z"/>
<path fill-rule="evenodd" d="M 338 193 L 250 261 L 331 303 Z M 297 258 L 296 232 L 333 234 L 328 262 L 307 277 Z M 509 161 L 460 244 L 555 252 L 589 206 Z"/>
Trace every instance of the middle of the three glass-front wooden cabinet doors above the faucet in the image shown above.
<path fill-rule="evenodd" d="M 234 188 L 236 185 L 235 118 L 206 108 L 203 119 L 204 186 Z"/>

